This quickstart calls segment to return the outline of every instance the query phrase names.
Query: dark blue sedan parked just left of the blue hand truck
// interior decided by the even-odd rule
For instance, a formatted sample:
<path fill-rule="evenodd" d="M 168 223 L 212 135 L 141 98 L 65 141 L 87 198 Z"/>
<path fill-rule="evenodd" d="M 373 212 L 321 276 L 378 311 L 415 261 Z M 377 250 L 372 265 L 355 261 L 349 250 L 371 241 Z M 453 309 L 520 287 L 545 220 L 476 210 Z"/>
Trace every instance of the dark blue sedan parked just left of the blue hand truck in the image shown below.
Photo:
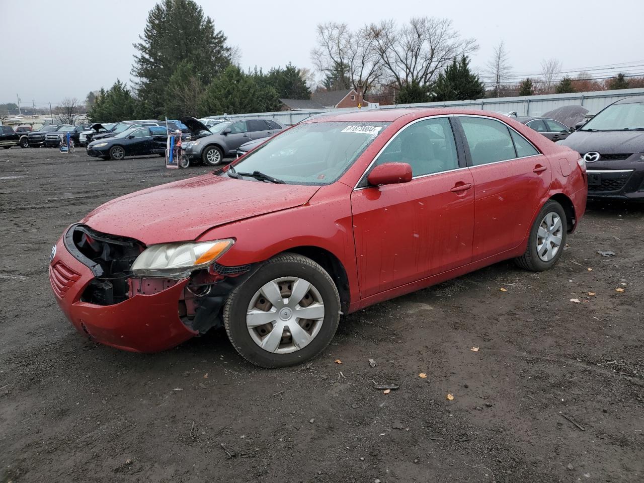
<path fill-rule="evenodd" d="M 182 135 L 182 139 L 187 138 L 187 135 Z M 164 155 L 166 142 L 165 126 L 135 126 L 114 137 L 93 140 L 87 146 L 87 154 L 114 160 L 126 156 Z"/>

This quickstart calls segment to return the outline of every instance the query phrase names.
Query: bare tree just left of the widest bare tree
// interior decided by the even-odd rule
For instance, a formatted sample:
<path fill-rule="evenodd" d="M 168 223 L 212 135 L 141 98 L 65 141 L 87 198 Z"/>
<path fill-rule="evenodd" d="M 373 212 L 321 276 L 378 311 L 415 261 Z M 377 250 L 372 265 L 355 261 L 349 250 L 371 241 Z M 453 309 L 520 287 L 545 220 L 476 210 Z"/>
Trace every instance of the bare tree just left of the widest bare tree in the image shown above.
<path fill-rule="evenodd" d="M 382 69 L 380 57 L 370 30 L 363 27 L 352 32 L 346 23 L 328 22 L 317 26 L 317 47 L 311 51 L 317 70 L 348 79 L 365 93 L 375 86 Z"/>

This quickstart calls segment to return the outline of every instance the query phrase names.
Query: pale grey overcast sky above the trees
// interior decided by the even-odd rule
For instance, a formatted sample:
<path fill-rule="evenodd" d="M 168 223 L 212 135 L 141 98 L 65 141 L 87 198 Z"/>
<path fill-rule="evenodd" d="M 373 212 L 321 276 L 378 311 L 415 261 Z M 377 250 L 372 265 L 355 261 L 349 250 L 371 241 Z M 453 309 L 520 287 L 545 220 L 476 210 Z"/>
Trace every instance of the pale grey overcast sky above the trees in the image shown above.
<path fill-rule="evenodd" d="M 556 57 L 564 70 L 623 64 L 644 72 L 644 1 L 381 1 L 323 2 L 198 0 L 206 15 L 242 52 L 244 69 L 265 70 L 292 62 L 312 67 L 316 24 L 346 22 L 352 28 L 414 15 L 452 19 L 480 50 L 473 66 L 484 68 L 505 41 L 517 75 L 538 73 Z M 90 90 L 130 81 L 134 49 L 155 0 L 30 2 L 0 0 L 0 103 L 37 107 L 64 97 L 84 99 Z M 296 6 L 297 5 L 297 6 Z M 362 11 L 360 11 L 362 9 Z M 600 72 L 600 71 L 593 71 Z"/>

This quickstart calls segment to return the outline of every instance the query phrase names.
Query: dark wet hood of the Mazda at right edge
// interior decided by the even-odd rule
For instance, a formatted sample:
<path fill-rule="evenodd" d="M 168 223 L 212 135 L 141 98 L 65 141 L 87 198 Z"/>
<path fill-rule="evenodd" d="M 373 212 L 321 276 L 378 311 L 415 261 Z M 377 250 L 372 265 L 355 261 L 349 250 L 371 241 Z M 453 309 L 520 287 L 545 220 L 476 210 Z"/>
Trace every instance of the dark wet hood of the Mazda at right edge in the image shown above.
<path fill-rule="evenodd" d="M 579 153 L 597 151 L 605 155 L 644 153 L 644 131 L 575 131 L 558 142 Z"/>

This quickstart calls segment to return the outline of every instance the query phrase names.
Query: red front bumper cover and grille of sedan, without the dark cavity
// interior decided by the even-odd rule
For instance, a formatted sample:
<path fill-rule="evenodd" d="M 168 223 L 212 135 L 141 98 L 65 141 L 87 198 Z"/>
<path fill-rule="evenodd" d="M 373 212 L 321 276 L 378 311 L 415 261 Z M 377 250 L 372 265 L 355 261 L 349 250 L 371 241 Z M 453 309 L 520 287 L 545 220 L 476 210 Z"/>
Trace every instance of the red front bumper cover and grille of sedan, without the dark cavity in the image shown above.
<path fill-rule="evenodd" d="M 90 268 L 56 244 L 49 267 L 55 299 L 72 325 L 91 339 L 132 352 L 158 352 L 174 347 L 198 332 L 179 318 L 178 302 L 187 284 L 179 281 L 152 295 L 134 295 L 115 305 L 94 305 L 81 296 L 94 278 Z"/>

